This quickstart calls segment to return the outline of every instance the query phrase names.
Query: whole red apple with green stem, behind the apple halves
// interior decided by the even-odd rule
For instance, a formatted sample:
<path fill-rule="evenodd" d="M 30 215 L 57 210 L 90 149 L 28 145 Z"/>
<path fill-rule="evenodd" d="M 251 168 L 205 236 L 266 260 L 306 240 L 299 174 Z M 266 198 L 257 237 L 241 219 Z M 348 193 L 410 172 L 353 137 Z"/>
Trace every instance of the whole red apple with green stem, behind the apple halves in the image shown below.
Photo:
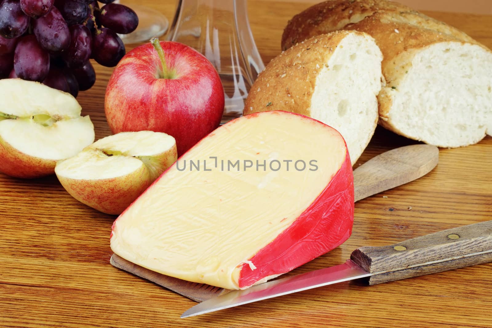
<path fill-rule="evenodd" d="M 214 66 L 196 50 L 151 41 L 116 66 L 106 89 L 106 119 L 113 133 L 165 132 L 181 155 L 220 124 L 224 89 Z"/>

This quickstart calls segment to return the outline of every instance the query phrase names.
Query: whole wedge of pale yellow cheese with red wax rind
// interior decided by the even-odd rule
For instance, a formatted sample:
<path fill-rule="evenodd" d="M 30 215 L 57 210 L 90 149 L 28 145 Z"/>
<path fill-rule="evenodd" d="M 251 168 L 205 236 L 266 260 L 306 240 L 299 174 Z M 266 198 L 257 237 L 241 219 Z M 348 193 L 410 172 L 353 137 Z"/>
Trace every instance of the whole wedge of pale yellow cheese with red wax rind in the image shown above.
<path fill-rule="evenodd" d="M 352 167 L 337 130 L 288 112 L 235 119 L 114 222 L 112 250 L 159 273 L 245 289 L 349 238 Z"/>

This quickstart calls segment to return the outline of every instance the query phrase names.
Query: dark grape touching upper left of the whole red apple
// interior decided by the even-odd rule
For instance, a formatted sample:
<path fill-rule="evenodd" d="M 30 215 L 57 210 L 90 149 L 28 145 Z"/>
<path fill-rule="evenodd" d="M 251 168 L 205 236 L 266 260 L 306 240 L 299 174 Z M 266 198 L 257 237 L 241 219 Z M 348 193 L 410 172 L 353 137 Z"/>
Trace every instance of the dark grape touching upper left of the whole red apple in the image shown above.
<path fill-rule="evenodd" d="M 92 41 L 92 55 L 99 64 L 113 67 L 123 58 L 125 49 L 122 39 L 113 31 L 102 28 Z"/>

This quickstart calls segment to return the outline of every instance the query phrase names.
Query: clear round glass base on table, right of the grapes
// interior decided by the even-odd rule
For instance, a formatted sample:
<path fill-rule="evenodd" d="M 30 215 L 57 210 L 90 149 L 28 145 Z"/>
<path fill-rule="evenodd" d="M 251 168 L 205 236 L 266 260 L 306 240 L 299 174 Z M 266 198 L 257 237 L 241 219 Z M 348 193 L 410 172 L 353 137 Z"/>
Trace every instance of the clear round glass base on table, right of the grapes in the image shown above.
<path fill-rule="evenodd" d="M 154 36 L 161 36 L 169 28 L 169 21 L 157 10 L 147 6 L 133 4 L 133 2 L 126 4 L 124 0 L 116 0 L 114 3 L 121 3 L 130 7 L 138 16 L 138 27 L 136 30 L 128 34 L 118 34 L 125 44 L 148 42 Z"/>

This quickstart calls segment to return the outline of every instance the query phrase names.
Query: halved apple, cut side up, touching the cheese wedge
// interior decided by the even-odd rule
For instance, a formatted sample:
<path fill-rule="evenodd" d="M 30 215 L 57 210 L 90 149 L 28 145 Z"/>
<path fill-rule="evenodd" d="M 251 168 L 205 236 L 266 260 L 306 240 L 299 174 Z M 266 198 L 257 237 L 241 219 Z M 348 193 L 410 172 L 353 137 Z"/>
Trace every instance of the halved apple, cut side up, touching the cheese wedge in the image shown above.
<path fill-rule="evenodd" d="M 78 201 L 120 214 L 178 158 L 175 139 L 162 132 L 121 132 L 57 163 L 62 186 Z"/>

